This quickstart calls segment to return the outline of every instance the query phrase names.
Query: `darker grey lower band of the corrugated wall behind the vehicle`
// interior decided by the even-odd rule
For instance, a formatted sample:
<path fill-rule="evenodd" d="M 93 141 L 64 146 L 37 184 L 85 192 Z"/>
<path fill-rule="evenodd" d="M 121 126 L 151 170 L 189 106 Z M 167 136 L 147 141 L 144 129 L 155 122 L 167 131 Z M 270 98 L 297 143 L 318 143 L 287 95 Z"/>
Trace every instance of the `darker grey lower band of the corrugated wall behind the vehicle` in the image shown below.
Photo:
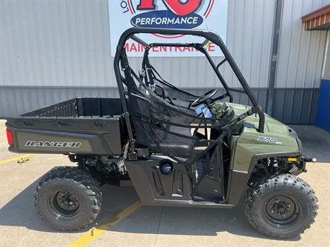
<path fill-rule="evenodd" d="M 186 89 L 201 95 L 206 89 Z M 259 104 L 265 108 L 267 89 L 252 89 Z M 218 95 L 225 93 L 223 89 Z M 10 102 L 0 107 L 0 117 L 16 117 L 42 106 L 55 104 L 74 97 L 118 97 L 116 88 L 36 88 L 3 87 L 0 90 L 1 102 Z M 233 93 L 234 102 L 251 105 L 246 95 Z M 283 104 L 284 102 L 284 104 Z M 318 89 L 276 89 L 274 117 L 287 124 L 314 124 L 318 104 Z"/>

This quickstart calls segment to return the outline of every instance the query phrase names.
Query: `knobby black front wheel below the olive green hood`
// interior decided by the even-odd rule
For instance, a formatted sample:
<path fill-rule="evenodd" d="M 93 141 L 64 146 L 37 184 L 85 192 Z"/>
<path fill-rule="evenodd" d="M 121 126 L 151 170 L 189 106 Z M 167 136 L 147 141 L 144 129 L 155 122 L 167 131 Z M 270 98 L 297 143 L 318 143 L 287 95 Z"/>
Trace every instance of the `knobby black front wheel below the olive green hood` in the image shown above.
<path fill-rule="evenodd" d="M 244 211 L 259 232 L 289 238 L 300 235 L 314 222 L 318 199 L 303 179 L 283 174 L 250 187 L 244 198 Z"/>

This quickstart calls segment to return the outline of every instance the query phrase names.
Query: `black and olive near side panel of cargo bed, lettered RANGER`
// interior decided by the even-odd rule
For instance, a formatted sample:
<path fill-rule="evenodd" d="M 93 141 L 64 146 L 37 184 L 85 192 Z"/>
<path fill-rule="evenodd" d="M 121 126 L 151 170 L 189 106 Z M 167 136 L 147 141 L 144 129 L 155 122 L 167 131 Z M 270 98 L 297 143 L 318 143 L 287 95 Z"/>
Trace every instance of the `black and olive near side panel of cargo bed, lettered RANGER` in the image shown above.
<path fill-rule="evenodd" d="M 10 119 L 8 150 L 45 154 L 121 154 L 120 119 Z"/>

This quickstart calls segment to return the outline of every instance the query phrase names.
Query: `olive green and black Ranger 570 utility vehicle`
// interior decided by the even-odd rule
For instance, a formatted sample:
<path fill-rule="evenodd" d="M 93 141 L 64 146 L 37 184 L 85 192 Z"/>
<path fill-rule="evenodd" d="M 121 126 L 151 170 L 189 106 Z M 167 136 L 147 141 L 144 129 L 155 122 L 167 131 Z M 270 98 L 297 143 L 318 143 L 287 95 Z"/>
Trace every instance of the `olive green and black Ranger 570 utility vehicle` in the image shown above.
<path fill-rule="evenodd" d="M 184 34 L 205 41 L 148 44 L 137 34 Z M 138 72 L 126 56 L 128 39 L 145 47 Z M 219 64 L 205 49 L 209 42 L 223 52 Z M 212 89 L 199 96 L 170 84 L 148 59 L 153 47 L 201 52 L 225 93 Z M 225 62 L 241 89 L 226 84 L 219 72 Z M 106 183 L 131 183 L 149 206 L 229 209 L 243 198 L 250 224 L 272 237 L 299 235 L 314 222 L 318 200 L 296 177 L 311 160 L 302 155 L 292 128 L 263 113 L 217 34 L 133 27 L 120 37 L 113 66 L 119 99 L 71 99 L 6 123 L 11 152 L 66 154 L 78 164 L 52 169 L 36 187 L 36 209 L 51 226 L 76 230 L 91 224 Z M 248 95 L 252 106 L 234 104 L 238 93 Z"/>

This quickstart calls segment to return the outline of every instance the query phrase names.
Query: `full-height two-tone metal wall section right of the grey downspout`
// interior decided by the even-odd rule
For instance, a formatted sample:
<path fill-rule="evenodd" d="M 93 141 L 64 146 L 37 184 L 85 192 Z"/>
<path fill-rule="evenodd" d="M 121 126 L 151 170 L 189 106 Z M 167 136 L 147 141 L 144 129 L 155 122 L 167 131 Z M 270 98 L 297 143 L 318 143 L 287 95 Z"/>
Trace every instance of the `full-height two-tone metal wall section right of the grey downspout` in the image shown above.
<path fill-rule="evenodd" d="M 273 113 L 285 123 L 314 124 L 327 31 L 305 31 L 301 16 L 329 3 L 283 2 Z"/>

